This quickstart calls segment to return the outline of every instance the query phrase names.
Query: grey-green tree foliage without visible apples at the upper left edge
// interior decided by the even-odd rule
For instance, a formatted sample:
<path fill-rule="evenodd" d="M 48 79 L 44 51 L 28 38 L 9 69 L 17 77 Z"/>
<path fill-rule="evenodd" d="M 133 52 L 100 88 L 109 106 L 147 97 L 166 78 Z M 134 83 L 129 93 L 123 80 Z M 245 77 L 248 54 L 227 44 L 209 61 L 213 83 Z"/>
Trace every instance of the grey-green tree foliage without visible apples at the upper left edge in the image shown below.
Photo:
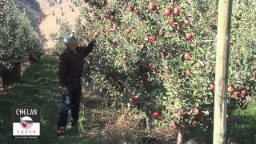
<path fill-rule="evenodd" d="M 31 54 L 42 54 L 42 41 L 14 0 L 4 1 L 0 9 L 0 67 L 25 62 Z M 1 69 L 0 69 L 1 72 Z"/>

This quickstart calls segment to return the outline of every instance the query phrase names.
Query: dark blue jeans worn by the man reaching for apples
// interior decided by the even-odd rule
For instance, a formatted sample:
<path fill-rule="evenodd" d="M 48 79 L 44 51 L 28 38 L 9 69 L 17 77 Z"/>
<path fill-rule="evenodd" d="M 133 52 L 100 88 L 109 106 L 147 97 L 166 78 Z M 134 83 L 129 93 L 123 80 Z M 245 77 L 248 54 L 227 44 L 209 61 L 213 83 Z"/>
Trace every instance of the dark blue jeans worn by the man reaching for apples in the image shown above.
<path fill-rule="evenodd" d="M 80 79 L 66 79 L 66 88 L 69 90 L 70 104 L 66 104 L 66 95 L 62 94 L 62 105 L 58 115 L 58 128 L 66 127 L 67 116 L 71 110 L 70 122 L 71 124 L 78 123 L 78 114 L 80 109 L 80 99 L 82 94 L 82 87 Z"/>

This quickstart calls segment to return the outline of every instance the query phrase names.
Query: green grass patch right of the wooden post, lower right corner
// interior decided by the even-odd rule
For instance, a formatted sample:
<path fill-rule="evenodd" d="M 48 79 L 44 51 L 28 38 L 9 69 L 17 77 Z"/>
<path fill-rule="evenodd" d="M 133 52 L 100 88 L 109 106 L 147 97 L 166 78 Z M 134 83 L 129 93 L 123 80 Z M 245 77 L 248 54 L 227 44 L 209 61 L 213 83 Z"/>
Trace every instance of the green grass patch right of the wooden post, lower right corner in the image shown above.
<path fill-rule="evenodd" d="M 234 121 L 227 126 L 230 143 L 256 143 L 256 105 L 250 103 L 246 110 L 235 110 Z"/>

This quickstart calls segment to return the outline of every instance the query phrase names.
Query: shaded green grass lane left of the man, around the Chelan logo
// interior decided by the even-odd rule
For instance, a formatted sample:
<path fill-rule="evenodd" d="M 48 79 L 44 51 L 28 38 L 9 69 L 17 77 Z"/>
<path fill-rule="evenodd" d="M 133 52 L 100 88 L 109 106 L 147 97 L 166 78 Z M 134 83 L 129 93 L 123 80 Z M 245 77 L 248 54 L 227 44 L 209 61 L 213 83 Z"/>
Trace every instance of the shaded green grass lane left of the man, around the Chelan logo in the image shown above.
<path fill-rule="evenodd" d="M 21 82 L 14 84 L 6 94 L 0 94 L 0 143 L 94 143 L 78 130 L 71 129 L 65 136 L 57 136 L 60 100 L 58 59 L 45 56 L 26 69 Z M 12 138 L 12 106 L 40 106 L 40 139 Z"/>

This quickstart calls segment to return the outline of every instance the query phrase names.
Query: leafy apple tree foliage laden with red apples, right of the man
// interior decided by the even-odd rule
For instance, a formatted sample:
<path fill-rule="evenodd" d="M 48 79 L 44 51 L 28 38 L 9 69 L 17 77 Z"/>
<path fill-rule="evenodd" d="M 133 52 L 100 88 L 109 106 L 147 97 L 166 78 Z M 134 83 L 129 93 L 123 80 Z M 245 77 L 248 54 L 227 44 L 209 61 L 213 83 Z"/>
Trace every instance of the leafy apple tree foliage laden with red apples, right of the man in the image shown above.
<path fill-rule="evenodd" d="M 229 115 L 238 106 L 246 108 L 246 97 L 255 94 L 255 22 L 250 18 L 255 6 L 234 1 Z M 208 130 L 214 107 L 217 9 L 216 1 L 204 0 L 85 1 L 75 30 L 78 39 L 86 44 L 101 30 L 97 48 L 87 58 L 92 83 L 121 105 L 158 112 L 156 122 Z"/>

